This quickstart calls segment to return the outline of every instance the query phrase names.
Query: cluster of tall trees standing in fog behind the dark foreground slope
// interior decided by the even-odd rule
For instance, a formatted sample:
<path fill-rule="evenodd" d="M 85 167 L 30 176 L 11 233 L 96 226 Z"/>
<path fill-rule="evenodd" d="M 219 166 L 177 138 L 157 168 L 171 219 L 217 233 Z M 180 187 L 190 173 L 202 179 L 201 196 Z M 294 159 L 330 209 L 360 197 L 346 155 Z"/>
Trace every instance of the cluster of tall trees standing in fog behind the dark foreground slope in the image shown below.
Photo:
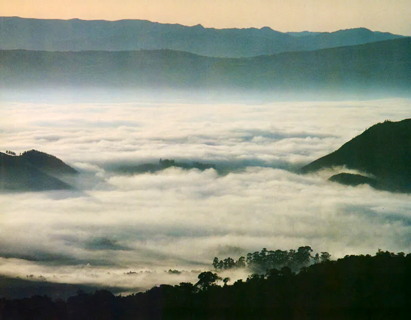
<path fill-rule="evenodd" d="M 299 247 L 297 250 L 267 250 L 263 248 L 260 252 L 248 253 L 246 257 L 241 256 L 237 260 L 231 257 L 223 260 L 215 257 L 213 267 L 218 270 L 230 270 L 237 268 L 248 268 L 252 272 L 264 273 L 270 269 L 281 269 L 289 267 L 296 272 L 312 263 L 325 262 L 330 260 L 328 252 L 321 252 L 312 255 L 313 250 L 309 246 Z"/>

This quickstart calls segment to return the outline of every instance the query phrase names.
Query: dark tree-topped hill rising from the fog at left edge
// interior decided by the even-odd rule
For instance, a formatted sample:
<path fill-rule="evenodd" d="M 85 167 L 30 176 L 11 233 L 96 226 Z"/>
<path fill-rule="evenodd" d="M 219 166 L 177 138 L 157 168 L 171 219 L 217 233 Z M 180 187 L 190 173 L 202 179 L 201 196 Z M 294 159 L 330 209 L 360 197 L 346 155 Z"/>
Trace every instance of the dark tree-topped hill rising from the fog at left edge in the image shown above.
<path fill-rule="evenodd" d="M 75 173 L 60 159 L 36 150 L 19 156 L 0 152 L 0 191 L 67 190 L 71 186 L 58 177 Z"/>

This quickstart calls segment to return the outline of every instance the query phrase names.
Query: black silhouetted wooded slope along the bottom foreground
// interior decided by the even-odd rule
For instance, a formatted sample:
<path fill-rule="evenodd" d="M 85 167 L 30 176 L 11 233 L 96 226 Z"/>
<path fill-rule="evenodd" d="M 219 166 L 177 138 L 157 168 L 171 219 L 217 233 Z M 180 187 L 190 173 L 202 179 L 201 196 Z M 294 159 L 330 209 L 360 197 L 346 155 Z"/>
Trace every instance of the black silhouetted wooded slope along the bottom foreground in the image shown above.
<path fill-rule="evenodd" d="M 379 250 L 323 261 L 295 273 L 289 267 L 220 286 L 202 272 L 196 284 L 160 285 L 115 296 L 79 292 L 63 300 L 0 299 L 0 319 L 401 319 L 409 318 L 411 254 Z"/>

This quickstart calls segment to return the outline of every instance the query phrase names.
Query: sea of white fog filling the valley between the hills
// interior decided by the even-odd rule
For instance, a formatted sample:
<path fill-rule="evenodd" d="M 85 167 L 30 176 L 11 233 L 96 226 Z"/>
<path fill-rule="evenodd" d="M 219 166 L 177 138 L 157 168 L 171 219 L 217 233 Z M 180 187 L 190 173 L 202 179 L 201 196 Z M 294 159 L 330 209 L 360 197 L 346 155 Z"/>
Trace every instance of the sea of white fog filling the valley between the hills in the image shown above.
<path fill-rule="evenodd" d="M 261 248 L 411 251 L 408 194 L 298 173 L 373 124 L 408 118 L 411 99 L 119 95 L 3 96 L 1 151 L 41 150 L 80 174 L 71 191 L 0 194 L 0 274 L 134 292 L 195 282 L 215 256 Z M 121 170 L 160 158 L 215 169 Z"/>

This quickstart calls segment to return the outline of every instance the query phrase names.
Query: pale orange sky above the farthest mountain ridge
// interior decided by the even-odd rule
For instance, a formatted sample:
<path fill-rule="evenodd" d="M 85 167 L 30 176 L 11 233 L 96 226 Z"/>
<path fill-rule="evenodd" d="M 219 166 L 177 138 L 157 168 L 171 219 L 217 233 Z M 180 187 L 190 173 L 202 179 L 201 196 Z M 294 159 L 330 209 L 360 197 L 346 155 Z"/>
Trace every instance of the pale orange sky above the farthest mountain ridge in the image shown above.
<path fill-rule="evenodd" d="M 278 31 L 366 27 L 411 35 L 411 0 L 0 0 L 0 16 L 144 19 Z"/>

